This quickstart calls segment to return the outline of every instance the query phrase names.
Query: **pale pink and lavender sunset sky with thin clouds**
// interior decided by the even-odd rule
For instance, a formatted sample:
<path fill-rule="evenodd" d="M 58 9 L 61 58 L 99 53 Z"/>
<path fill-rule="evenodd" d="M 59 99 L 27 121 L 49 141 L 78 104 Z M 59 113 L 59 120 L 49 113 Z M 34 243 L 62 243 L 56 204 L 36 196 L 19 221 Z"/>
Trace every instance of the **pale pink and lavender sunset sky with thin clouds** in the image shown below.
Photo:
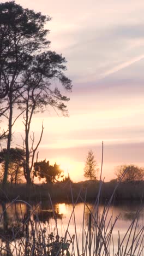
<path fill-rule="evenodd" d="M 5 1 L 1 1 L 5 2 Z M 44 136 L 39 160 L 61 164 L 73 181 L 81 181 L 89 149 L 103 178 L 115 178 L 118 165 L 144 166 L 144 2 L 141 0 L 16 0 L 25 8 L 52 17 L 51 50 L 67 60 L 65 74 L 73 82 L 69 117 L 47 109 L 32 122 Z M 20 138 L 22 123 L 15 127 Z"/>

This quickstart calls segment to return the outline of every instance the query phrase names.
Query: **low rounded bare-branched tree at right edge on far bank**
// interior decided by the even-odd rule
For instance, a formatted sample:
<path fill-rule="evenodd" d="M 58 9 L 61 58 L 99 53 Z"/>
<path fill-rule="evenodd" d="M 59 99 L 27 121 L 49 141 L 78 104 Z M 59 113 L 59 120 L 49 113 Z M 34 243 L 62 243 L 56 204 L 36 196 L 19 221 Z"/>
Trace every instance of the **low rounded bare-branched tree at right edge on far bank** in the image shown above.
<path fill-rule="evenodd" d="M 124 177 L 122 182 L 134 182 L 134 181 L 143 181 L 144 178 L 144 168 L 138 167 L 136 165 L 121 165 L 117 167 L 116 176 L 119 180 L 123 173 Z"/>

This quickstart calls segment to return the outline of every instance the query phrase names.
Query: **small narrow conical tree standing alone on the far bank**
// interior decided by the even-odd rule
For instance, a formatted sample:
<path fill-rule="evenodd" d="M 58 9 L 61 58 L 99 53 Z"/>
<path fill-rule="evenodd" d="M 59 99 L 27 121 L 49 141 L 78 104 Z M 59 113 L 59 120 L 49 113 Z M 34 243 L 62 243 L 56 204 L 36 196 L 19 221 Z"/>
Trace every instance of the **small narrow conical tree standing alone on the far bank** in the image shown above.
<path fill-rule="evenodd" d="M 87 179 L 96 179 L 98 170 L 93 151 L 89 150 L 84 167 L 84 176 Z"/>

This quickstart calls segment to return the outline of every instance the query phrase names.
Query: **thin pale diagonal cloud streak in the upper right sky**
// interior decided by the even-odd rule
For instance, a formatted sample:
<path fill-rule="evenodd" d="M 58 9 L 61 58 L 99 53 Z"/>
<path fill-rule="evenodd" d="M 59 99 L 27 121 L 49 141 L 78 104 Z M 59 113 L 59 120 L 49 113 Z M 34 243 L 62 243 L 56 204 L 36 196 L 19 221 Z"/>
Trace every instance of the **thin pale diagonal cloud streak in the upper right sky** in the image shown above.
<path fill-rule="evenodd" d="M 132 59 L 132 60 L 130 60 L 130 61 L 123 62 L 122 64 L 119 64 L 119 65 L 117 65 L 117 66 L 115 66 L 115 67 L 109 69 L 109 70 L 106 71 L 105 73 L 101 74 L 100 77 L 101 77 L 101 78 L 104 78 L 104 77 L 106 77 L 107 75 L 114 74 L 114 73 L 120 71 L 121 69 L 126 68 L 126 67 L 128 67 L 128 66 L 130 66 L 130 65 L 134 64 L 135 62 L 138 62 L 138 61 L 140 61 L 140 60 L 142 60 L 142 59 L 144 59 L 144 54 L 142 54 L 142 55 L 140 55 L 139 57 L 136 57 L 136 58 L 134 58 L 134 59 Z"/>

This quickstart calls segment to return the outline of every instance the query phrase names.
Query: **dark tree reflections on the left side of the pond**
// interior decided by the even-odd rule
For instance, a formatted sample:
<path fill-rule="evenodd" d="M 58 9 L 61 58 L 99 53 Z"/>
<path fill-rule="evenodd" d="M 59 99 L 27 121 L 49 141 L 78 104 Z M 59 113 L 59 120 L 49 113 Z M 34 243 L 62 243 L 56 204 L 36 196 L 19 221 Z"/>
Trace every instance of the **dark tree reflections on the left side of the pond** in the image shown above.
<path fill-rule="evenodd" d="M 54 208 L 53 208 L 54 207 Z M 29 235 L 34 223 L 49 224 L 50 219 L 62 219 L 58 205 L 41 203 L 39 206 L 29 207 L 27 203 L 14 202 L 0 205 L 0 255 L 14 255 L 15 242 L 23 237 L 25 255 L 29 246 Z"/>

